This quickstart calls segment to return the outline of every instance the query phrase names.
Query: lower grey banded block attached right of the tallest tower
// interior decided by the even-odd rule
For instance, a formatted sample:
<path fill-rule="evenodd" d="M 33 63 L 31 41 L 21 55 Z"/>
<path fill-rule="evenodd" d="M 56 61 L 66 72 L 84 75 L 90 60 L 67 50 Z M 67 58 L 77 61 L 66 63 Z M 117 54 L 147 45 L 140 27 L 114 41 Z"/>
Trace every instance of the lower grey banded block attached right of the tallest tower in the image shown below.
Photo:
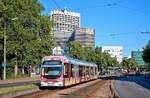
<path fill-rule="evenodd" d="M 75 29 L 74 40 L 87 46 L 95 46 L 95 30 L 90 28 Z"/>

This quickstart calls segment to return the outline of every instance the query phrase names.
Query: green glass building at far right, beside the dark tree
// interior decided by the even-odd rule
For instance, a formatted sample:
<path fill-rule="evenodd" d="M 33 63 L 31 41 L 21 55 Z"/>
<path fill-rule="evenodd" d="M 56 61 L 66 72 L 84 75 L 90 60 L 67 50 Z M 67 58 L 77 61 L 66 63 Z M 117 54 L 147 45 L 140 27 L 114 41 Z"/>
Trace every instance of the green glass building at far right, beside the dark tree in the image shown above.
<path fill-rule="evenodd" d="M 142 51 L 132 51 L 131 56 L 132 58 L 135 59 L 136 63 L 138 64 L 139 67 L 144 68 L 145 67 L 145 62 L 142 58 L 143 52 Z"/>

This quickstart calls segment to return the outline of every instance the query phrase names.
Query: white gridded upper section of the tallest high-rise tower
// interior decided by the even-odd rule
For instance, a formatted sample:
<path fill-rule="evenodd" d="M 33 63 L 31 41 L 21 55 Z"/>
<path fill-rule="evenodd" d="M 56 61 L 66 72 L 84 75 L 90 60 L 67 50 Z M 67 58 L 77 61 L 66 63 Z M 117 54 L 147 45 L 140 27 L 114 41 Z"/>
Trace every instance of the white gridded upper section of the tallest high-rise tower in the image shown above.
<path fill-rule="evenodd" d="M 51 11 L 51 18 L 54 31 L 73 32 L 80 27 L 80 13 L 56 9 Z"/>

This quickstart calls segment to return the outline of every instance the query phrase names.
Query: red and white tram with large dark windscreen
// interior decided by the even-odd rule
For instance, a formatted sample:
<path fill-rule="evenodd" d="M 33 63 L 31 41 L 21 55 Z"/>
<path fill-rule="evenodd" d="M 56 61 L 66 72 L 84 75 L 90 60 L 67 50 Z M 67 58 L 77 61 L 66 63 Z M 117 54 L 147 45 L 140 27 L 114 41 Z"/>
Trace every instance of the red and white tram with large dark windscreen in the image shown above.
<path fill-rule="evenodd" d="M 67 56 L 45 56 L 40 73 L 41 87 L 65 87 L 97 79 L 97 65 Z"/>

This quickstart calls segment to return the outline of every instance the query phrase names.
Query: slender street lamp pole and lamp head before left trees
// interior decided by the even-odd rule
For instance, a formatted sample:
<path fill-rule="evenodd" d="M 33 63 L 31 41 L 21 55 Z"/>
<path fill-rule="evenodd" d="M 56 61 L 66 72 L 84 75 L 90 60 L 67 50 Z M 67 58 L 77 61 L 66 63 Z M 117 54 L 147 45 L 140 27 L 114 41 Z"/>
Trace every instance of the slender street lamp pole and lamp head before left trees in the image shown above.
<path fill-rule="evenodd" d="M 15 17 L 15 18 L 12 18 L 11 20 L 14 21 L 16 19 L 18 19 L 18 18 Z M 3 80 L 6 79 L 6 39 L 7 39 L 6 27 L 7 27 L 7 23 L 4 22 L 4 63 L 3 63 L 4 72 L 3 72 Z"/>

